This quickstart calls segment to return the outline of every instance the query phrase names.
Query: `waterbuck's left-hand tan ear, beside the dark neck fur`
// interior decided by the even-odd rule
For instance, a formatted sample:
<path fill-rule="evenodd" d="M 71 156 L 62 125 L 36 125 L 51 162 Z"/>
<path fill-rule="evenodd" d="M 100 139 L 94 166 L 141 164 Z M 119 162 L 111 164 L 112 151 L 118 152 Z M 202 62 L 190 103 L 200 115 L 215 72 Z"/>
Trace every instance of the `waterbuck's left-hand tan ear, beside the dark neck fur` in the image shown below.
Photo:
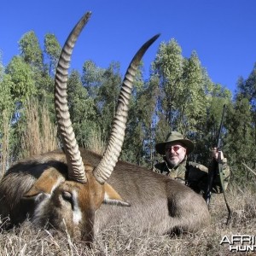
<path fill-rule="evenodd" d="M 52 191 L 65 181 L 65 178 L 55 168 L 50 167 L 44 171 L 38 180 L 32 185 L 23 197 L 29 198 L 37 196 L 41 193 L 51 194 Z"/>

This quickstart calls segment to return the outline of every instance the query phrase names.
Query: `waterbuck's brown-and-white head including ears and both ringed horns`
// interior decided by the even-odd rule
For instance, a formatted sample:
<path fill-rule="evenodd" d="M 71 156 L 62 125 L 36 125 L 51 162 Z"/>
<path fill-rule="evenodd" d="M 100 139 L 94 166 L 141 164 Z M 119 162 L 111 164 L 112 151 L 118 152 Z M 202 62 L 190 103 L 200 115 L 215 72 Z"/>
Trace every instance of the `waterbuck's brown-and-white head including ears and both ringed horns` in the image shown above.
<path fill-rule="evenodd" d="M 92 240 L 95 212 L 103 202 L 129 207 L 129 202 L 125 202 L 107 181 L 123 145 L 137 67 L 148 47 L 159 37 L 149 39 L 132 59 L 120 90 L 108 146 L 98 165 L 94 166 L 81 156 L 67 107 L 67 70 L 74 44 L 89 18 L 90 12 L 74 26 L 62 48 L 55 74 L 55 111 L 65 154 L 55 152 L 34 159 L 41 163 L 37 167 L 41 168 L 41 175 L 22 197 L 35 204 L 32 220 L 36 224 L 49 221 L 57 229 L 67 230 L 83 241 Z M 54 164 L 49 164 L 51 162 Z"/>

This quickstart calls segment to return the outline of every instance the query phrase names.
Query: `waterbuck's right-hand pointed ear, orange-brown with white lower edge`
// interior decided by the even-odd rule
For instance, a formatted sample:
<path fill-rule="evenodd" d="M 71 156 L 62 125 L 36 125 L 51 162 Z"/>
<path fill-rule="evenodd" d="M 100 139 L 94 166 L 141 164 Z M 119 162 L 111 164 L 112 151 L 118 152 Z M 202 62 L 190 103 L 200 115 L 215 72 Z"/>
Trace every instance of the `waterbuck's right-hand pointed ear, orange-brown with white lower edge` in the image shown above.
<path fill-rule="evenodd" d="M 108 205 L 117 205 L 121 207 L 131 207 L 130 203 L 123 200 L 123 198 L 119 195 L 118 192 L 116 192 L 115 189 L 108 183 L 104 183 L 104 204 Z"/>

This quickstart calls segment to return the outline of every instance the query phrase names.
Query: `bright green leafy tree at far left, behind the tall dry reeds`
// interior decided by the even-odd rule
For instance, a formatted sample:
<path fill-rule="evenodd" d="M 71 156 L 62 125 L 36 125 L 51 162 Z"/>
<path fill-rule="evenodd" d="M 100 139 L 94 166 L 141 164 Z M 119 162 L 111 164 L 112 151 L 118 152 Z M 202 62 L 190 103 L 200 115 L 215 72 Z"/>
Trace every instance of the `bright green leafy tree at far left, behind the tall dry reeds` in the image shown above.
<path fill-rule="evenodd" d="M 3 123 L 9 124 L 9 127 L 5 127 L 5 131 L 9 131 L 9 157 L 13 161 L 17 160 L 20 154 L 19 126 L 21 124 L 19 123 L 24 105 L 30 97 L 37 94 L 32 67 L 22 57 L 13 57 L 5 69 L 1 87 L 5 91 L 3 96 L 5 121 Z"/>

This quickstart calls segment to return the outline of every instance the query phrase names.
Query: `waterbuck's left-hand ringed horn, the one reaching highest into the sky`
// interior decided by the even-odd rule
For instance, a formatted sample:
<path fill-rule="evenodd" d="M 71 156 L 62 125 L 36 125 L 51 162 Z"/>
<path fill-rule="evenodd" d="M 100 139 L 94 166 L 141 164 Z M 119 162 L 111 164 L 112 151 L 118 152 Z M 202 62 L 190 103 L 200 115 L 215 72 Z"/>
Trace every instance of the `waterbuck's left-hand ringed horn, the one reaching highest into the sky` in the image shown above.
<path fill-rule="evenodd" d="M 84 164 L 80 155 L 79 145 L 74 136 L 70 114 L 67 107 L 67 71 L 73 52 L 74 44 L 79 38 L 84 26 L 90 19 L 91 13 L 86 13 L 74 26 L 64 44 L 55 74 L 55 111 L 61 139 L 67 157 L 68 178 L 86 183 Z"/>

